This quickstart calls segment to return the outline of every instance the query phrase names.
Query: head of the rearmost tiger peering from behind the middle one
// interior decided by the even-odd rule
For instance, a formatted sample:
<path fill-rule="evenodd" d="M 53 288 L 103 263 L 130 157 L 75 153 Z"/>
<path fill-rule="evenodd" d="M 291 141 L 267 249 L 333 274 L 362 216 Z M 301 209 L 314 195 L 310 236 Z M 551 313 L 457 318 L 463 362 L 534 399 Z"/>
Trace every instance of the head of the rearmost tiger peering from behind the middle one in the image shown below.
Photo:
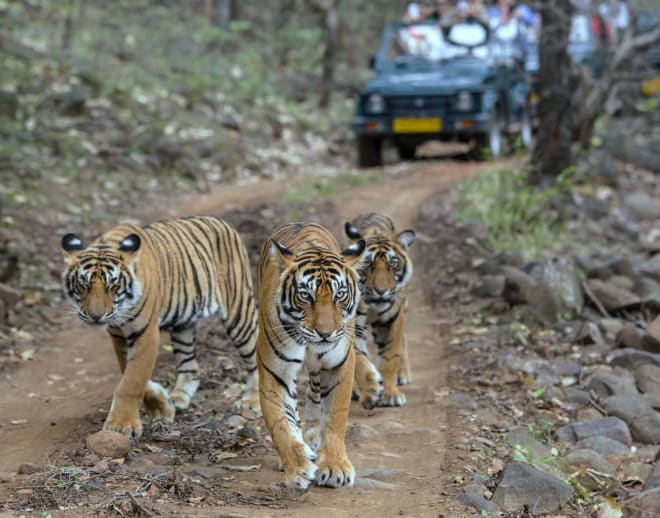
<path fill-rule="evenodd" d="M 346 235 L 356 241 L 365 239 L 351 223 L 344 227 Z M 366 238 L 362 266 L 358 269 L 364 300 L 367 304 L 390 304 L 412 277 L 412 262 L 408 248 L 415 240 L 415 231 L 404 230 L 391 238 L 374 234 Z"/>

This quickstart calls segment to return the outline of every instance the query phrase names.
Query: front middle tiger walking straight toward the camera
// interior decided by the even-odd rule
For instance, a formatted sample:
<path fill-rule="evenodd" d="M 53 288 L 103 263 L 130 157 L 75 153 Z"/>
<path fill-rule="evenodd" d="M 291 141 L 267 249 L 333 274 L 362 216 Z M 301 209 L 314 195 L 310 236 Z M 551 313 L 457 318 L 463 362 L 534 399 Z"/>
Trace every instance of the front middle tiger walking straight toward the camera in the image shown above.
<path fill-rule="evenodd" d="M 355 364 L 358 274 L 365 242 L 343 251 L 317 223 L 277 227 L 257 268 L 259 400 L 285 485 L 352 486 L 345 435 Z M 297 376 L 309 376 L 305 432 Z"/>

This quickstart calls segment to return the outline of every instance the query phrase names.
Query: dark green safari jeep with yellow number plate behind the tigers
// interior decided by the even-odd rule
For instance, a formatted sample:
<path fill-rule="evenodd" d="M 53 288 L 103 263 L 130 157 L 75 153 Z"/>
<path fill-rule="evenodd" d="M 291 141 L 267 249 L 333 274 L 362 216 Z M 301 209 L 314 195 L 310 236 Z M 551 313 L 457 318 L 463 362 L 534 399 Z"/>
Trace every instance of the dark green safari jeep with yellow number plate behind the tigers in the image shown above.
<path fill-rule="evenodd" d="M 476 21 L 387 26 L 372 62 L 375 77 L 357 99 L 358 165 L 380 165 L 385 139 L 403 159 L 429 140 L 473 142 L 493 157 L 513 134 L 529 146 L 529 92 L 514 36 Z"/>

